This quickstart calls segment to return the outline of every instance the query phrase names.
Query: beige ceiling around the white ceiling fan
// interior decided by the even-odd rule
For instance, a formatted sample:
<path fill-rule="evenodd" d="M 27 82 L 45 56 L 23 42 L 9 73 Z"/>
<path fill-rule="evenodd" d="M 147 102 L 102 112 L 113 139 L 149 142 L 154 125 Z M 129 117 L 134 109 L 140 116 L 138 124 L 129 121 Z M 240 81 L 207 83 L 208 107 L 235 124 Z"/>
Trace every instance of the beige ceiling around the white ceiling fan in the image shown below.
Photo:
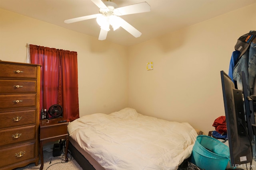
<path fill-rule="evenodd" d="M 135 38 L 120 27 L 108 32 L 107 41 L 134 45 L 256 3 L 256 0 L 112 0 L 118 7 L 144 1 L 151 6 L 150 12 L 122 16 L 142 35 Z M 67 19 L 98 14 L 99 9 L 91 0 L 0 0 L 0 8 L 93 37 L 98 38 L 100 33 L 96 19 L 64 23 Z"/>

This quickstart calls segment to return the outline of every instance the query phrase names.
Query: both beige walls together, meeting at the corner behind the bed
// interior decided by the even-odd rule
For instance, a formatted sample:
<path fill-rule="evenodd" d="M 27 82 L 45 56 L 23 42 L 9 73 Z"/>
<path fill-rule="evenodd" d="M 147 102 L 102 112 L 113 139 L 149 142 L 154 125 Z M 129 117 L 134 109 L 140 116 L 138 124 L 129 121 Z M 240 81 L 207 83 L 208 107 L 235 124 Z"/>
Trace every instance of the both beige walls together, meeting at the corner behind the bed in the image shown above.
<path fill-rule="evenodd" d="M 224 115 L 220 70 L 256 30 L 256 4 L 131 47 L 0 9 L 0 59 L 26 62 L 26 43 L 78 52 L 80 115 L 133 107 L 208 133 Z M 147 71 L 146 63 L 154 62 Z"/>

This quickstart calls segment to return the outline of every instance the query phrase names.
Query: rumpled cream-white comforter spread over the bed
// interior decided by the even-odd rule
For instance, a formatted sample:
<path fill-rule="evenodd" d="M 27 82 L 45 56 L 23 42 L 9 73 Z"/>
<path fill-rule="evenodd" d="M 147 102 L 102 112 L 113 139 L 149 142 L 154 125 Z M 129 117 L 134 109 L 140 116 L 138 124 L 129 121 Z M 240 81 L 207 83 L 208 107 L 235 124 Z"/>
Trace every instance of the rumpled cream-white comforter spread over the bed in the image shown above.
<path fill-rule="evenodd" d="M 188 123 L 131 108 L 85 115 L 69 123 L 68 133 L 106 170 L 177 170 L 197 136 Z"/>

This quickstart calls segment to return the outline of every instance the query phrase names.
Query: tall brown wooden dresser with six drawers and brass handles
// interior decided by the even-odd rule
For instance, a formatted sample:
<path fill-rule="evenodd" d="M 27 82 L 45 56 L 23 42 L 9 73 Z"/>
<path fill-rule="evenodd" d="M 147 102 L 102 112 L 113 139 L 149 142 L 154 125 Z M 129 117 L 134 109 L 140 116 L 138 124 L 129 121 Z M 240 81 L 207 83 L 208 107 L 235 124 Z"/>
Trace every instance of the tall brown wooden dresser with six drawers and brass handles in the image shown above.
<path fill-rule="evenodd" d="M 38 165 L 40 65 L 0 61 L 0 170 Z"/>

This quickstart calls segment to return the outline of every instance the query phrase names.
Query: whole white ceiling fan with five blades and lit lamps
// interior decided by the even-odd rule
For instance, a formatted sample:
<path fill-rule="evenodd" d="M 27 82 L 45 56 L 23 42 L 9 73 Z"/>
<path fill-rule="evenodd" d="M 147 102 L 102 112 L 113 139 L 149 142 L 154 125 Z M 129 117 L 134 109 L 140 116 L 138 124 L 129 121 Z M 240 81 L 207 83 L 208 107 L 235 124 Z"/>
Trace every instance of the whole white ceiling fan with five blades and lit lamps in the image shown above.
<path fill-rule="evenodd" d="M 122 27 L 134 37 L 140 37 L 142 34 L 128 22 L 120 18 L 119 16 L 136 14 L 142 12 L 150 12 L 150 5 L 147 2 L 141 2 L 138 4 L 132 4 L 118 8 L 118 6 L 111 0 L 102 2 L 101 0 L 91 0 L 96 6 L 100 8 L 100 14 L 92 14 L 89 16 L 82 16 L 78 18 L 72 18 L 64 20 L 65 23 L 74 23 L 78 21 L 84 21 L 96 18 L 97 23 L 100 25 L 99 40 L 104 40 L 107 37 L 110 25 L 116 30 L 118 27 Z"/>

